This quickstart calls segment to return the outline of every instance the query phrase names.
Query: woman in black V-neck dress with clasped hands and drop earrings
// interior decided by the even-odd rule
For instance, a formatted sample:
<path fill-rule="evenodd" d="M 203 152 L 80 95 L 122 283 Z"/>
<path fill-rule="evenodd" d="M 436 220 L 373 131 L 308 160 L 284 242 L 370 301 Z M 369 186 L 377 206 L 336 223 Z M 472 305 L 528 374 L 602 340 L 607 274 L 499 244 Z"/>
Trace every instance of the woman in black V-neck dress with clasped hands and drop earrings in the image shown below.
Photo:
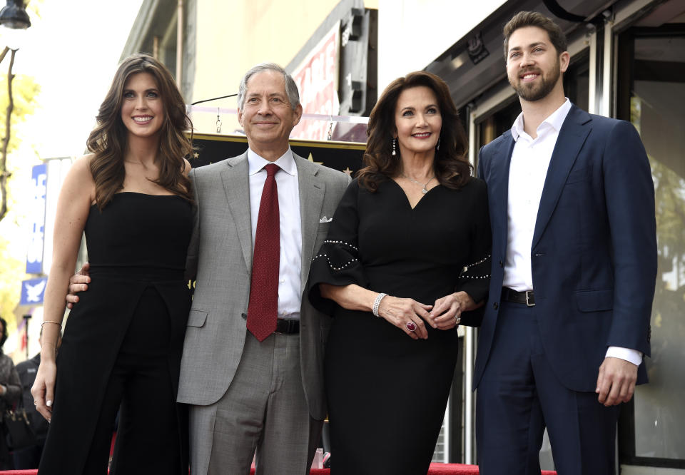
<path fill-rule="evenodd" d="M 447 84 L 393 81 L 371 112 L 365 167 L 310 271 L 333 315 L 325 384 L 335 474 L 425 474 L 450 393 L 460 322 L 487 295 L 482 180 Z"/>

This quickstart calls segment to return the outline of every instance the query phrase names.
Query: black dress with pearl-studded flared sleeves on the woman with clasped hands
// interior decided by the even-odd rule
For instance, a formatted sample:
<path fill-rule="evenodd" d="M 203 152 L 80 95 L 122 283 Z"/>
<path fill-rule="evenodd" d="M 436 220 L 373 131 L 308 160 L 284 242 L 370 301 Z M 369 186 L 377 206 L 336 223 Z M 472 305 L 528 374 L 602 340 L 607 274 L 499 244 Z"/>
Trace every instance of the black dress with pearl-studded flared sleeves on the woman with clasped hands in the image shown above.
<path fill-rule="evenodd" d="M 336 474 L 426 473 L 457 361 L 457 330 L 415 341 L 370 312 L 343 310 L 318 284 L 358 284 L 432 305 L 455 290 L 487 295 L 490 232 L 485 185 L 432 188 L 411 208 L 392 180 L 376 193 L 355 180 L 312 263 L 310 300 L 335 318 L 325 384 Z M 460 278 L 462 275 L 462 278 Z"/>

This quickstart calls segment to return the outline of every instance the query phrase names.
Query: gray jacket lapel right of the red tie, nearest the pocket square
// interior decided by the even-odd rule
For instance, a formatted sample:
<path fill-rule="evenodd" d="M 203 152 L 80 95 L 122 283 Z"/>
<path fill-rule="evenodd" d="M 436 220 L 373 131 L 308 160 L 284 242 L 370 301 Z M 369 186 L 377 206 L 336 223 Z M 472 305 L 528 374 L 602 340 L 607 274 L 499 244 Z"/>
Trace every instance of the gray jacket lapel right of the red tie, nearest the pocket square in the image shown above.
<path fill-rule="evenodd" d="M 302 271 L 301 288 L 304 290 L 309 267 L 314 255 L 314 243 L 318 232 L 321 207 L 325 195 L 326 184 L 318 177 L 318 167 L 308 160 L 295 155 L 295 165 L 298 167 L 298 183 L 300 188 L 300 220 L 302 222 Z"/>

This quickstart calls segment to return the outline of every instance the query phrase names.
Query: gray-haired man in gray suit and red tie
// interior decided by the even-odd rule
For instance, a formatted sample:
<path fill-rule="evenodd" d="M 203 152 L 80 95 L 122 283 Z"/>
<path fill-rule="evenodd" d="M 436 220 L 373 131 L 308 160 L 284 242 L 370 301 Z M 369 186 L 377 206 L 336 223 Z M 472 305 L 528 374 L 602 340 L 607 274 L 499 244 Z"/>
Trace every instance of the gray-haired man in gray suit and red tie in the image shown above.
<path fill-rule="evenodd" d="M 350 177 L 290 150 L 288 136 L 300 116 L 293 78 L 273 63 L 255 66 L 238 92 L 248 151 L 190 173 L 197 208 L 186 267 L 197 283 L 178 402 L 190 404 L 193 475 L 249 474 L 255 451 L 258 474 L 308 474 L 319 440 L 330 317 L 302 292 Z M 268 172 L 271 163 L 278 165 L 275 174 Z M 255 239 L 265 238 L 258 222 L 268 213 L 260 202 L 269 180 L 278 190 L 271 208 L 278 208 L 280 233 L 267 237 L 279 247 L 278 282 L 253 286 L 257 267 L 276 260 L 255 259 L 253 269 Z M 72 278 L 80 282 L 86 281 Z M 270 292 L 278 320 L 266 336 L 250 320 L 261 317 Z"/>

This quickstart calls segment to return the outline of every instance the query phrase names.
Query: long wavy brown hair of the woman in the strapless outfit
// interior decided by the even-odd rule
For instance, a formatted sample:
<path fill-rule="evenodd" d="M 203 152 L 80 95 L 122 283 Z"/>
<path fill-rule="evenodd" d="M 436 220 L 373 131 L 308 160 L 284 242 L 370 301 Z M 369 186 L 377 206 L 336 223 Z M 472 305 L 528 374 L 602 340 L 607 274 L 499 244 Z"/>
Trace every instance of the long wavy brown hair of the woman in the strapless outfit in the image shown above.
<path fill-rule="evenodd" d="M 116 70 L 109 92 L 98 111 L 97 126 L 86 142 L 88 151 L 95 154 L 90 168 L 95 181 L 95 199 L 100 210 L 123 188 L 126 175 L 123 155 L 128 144 L 128 129 L 121 121 L 121 104 L 123 87 L 128 78 L 136 73 L 149 73 L 155 78 L 164 104 L 164 120 L 157 155 L 159 177 L 153 182 L 193 201 L 191 182 L 183 175 L 186 168 L 183 157 L 193 151 L 192 139 L 185 134 L 186 130 L 193 130 L 193 123 L 186 114 L 186 103 L 168 69 L 152 56 L 136 53 L 124 59 Z"/>

